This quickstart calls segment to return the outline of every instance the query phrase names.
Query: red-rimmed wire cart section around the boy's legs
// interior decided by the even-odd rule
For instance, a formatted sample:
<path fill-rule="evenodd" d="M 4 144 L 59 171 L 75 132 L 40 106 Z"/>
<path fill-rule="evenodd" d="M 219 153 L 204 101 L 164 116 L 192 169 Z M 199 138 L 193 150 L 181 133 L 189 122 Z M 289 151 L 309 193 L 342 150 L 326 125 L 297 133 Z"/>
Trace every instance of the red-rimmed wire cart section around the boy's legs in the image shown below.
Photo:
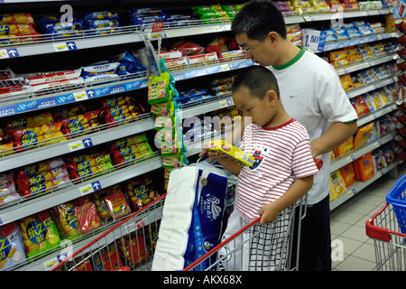
<path fill-rule="evenodd" d="M 300 220 L 306 215 L 307 198 L 304 197 L 291 207 L 283 210 L 278 218 L 261 226 L 258 219 L 247 223 L 244 228 L 223 240 L 217 247 L 185 267 L 183 271 L 289 271 L 297 269 L 291 263 L 291 242 L 295 228 L 295 214 Z M 296 210 L 299 209 L 299 210 Z M 300 224 L 298 227 L 300 231 Z M 299 245 L 297 259 L 299 264 Z"/>

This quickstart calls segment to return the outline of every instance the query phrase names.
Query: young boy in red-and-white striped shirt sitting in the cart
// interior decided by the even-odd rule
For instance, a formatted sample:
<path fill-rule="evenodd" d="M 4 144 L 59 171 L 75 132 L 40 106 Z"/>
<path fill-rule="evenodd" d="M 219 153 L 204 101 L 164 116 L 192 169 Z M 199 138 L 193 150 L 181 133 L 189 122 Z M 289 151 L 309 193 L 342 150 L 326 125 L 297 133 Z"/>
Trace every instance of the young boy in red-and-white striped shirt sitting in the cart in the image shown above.
<path fill-rule="evenodd" d="M 243 117 L 252 119 L 252 124 L 245 127 L 240 149 L 255 156 L 254 166 L 241 168 L 215 152 L 208 152 L 208 149 L 199 154 L 207 154 L 210 160 L 216 159 L 227 171 L 238 176 L 235 210 L 228 219 L 223 239 L 259 216 L 261 225 L 277 219 L 283 210 L 309 191 L 313 175 L 318 172 L 310 151 L 309 135 L 304 126 L 286 113 L 277 81 L 270 70 L 261 66 L 242 70 L 235 78 L 232 91 L 235 107 L 240 109 Z M 277 234 L 285 236 L 288 223 L 286 219 L 281 221 Z M 286 254 L 284 249 L 281 251 L 281 243 L 273 244 L 274 235 L 275 232 L 265 232 L 261 236 L 265 240 L 258 240 L 262 247 L 273 248 L 272 258 L 260 266 L 262 269 L 279 266 Z M 247 244 L 251 253 L 242 253 L 244 263 L 232 260 L 227 262 L 228 269 L 230 266 L 232 270 L 247 270 L 252 266 L 258 269 L 254 264 L 258 260 L 252 256 L 252 243 Z M 263 253 L 260 257 L 263 258 Z M 248 259 L 249 262 L 245 262 Z"/>

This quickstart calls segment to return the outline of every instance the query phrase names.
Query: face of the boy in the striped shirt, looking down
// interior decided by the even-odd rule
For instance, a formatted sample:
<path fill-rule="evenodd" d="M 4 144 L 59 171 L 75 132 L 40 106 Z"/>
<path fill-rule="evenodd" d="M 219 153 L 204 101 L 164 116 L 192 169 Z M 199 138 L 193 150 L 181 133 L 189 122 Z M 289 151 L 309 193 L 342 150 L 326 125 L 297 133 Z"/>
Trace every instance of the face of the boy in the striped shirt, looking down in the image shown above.
<path fill-rule="evenodd" d="M 233 101 L 243 117 L 252 117 L 256 126 L 268 126 L 275 113 L 276 93 L 270 90 L 263 99 L 255 97 L 246 87 L 241 87 L 233 93 Z"/>

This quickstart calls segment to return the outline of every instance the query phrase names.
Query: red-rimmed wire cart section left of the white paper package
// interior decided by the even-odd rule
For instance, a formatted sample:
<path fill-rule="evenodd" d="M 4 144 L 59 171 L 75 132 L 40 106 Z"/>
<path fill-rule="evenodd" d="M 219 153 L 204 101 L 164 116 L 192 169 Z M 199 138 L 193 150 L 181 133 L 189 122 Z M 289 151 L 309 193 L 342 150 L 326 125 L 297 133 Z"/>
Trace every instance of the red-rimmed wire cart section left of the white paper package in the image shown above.
<path fill-rule="evenodd" d="M 149 270 L 162 216 L 162 194 L 67 256 L 51 271 Z"/>

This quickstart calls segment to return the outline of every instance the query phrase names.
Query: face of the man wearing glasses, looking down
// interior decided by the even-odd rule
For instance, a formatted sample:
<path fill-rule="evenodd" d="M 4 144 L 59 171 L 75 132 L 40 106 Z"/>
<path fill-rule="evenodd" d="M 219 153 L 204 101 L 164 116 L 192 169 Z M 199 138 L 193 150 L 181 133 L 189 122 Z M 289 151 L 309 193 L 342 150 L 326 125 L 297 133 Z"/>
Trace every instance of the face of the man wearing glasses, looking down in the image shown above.
<path fill-rule="evenodd" d="M 245 51 L 245 59 L 254 61 L 262 66 L 270 66 L 275 62 L 275 55 L 268 35 L 261 42 L 248 38 L 246 33 L 235 35 L 236 42 Z"/>

